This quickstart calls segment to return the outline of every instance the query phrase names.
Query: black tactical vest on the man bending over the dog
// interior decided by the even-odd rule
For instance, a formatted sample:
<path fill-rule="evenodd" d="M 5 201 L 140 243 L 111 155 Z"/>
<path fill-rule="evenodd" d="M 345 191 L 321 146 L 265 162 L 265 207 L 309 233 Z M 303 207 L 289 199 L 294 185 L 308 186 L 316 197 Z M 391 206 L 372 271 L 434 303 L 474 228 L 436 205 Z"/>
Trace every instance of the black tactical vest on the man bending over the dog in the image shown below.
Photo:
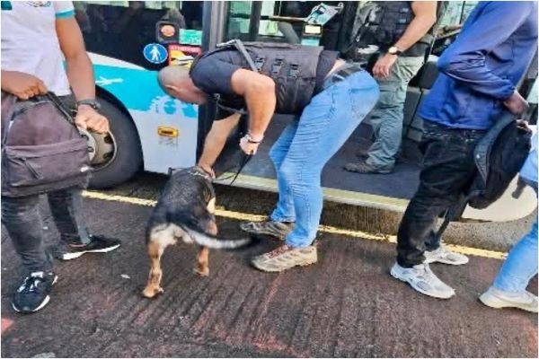
<path fill-rule="evenodd" d="M 301 113 L 314 95 L 316 68 L 323 48 L 266 42 L 244 42 L 243 46 L 246 50 L 246 56 L 249 58 L 238 57 L 238 60 L 234 61 L 234 65 L 257 71 L 273 79 L 276 85 L 276 112 L 282 114 Z M 191 69 L 197 66 L 199 59 L 220 51 L 231 50 L 239 51 L 234 45 L 234 41 L 220 44 L 215 50 L 208 51 L 198 57 Z M 249 60 L 255 68 L 250 66 Z M 234 110 L 241 112 L 240 109 Z"/>

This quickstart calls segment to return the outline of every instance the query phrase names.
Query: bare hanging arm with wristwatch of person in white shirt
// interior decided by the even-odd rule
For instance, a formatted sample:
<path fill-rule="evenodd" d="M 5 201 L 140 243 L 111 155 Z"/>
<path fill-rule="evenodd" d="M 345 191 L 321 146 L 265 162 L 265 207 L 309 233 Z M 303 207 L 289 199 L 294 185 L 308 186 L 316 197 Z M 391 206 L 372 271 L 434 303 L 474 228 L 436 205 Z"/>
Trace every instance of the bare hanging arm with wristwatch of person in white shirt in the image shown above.
<path fill-rule="evenodd" d="M 93 67 L 84 48 L 84 39 L 75 17 L 56 20 L 56 31 L 60 49 L 66 57 L 66 72 L 69 84 L 77 101 L 95 100 Z M 80 105 L 75 117 L 77 126 L 98 133 L 109 131 L 109 121 L 88 105 Z"/>

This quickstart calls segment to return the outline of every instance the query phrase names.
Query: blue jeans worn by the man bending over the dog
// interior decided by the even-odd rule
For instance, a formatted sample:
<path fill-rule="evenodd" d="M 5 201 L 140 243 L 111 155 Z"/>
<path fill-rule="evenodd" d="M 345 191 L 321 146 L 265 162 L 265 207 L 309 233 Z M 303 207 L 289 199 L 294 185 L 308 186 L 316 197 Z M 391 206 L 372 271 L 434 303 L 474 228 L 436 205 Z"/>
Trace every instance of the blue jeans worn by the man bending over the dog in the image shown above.
<path fill-rule="evenodd" d="M 314 96 L 299 121 L 290 123 L 270 151 L 278 180 L 278 204 L 271 220 L 296 222 L 286 243 L 306 247 L 316 237 L 322 214 L 323 166 L 378 100 L 378 85 L 365 71 L 349 75 Z"/>

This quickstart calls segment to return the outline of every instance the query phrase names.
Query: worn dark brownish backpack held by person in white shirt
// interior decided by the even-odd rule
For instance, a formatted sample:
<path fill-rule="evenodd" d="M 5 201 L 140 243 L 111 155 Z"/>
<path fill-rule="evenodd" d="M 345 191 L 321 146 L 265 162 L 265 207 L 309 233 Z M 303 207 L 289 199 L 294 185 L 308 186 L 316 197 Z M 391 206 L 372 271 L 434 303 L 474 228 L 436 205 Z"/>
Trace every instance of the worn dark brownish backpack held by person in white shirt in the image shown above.
<path fill-rule="evenodd" d="M 18 101 L 2 92 L 2 196 L 84 188 L 90 170 L 88 145 L 56 95 Z"/>

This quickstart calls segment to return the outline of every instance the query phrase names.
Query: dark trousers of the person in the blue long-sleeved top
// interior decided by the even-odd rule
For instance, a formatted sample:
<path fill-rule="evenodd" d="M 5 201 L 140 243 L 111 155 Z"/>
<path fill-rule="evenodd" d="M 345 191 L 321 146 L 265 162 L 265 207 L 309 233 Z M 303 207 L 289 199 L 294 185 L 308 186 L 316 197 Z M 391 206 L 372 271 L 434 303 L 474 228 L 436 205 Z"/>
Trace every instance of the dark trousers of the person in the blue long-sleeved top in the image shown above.
<path fill-rule="evenodd" d="M 420 187 L 404 212 L 397 234 L 397 263 L 402 267 L 423 263 L 423 252 L 439 247 L 434 231 L 437 217 L 458 203 L 473 179 L 477 171 L 473 150 L 486 134 L 427 120 L 423 127 Z"/>

